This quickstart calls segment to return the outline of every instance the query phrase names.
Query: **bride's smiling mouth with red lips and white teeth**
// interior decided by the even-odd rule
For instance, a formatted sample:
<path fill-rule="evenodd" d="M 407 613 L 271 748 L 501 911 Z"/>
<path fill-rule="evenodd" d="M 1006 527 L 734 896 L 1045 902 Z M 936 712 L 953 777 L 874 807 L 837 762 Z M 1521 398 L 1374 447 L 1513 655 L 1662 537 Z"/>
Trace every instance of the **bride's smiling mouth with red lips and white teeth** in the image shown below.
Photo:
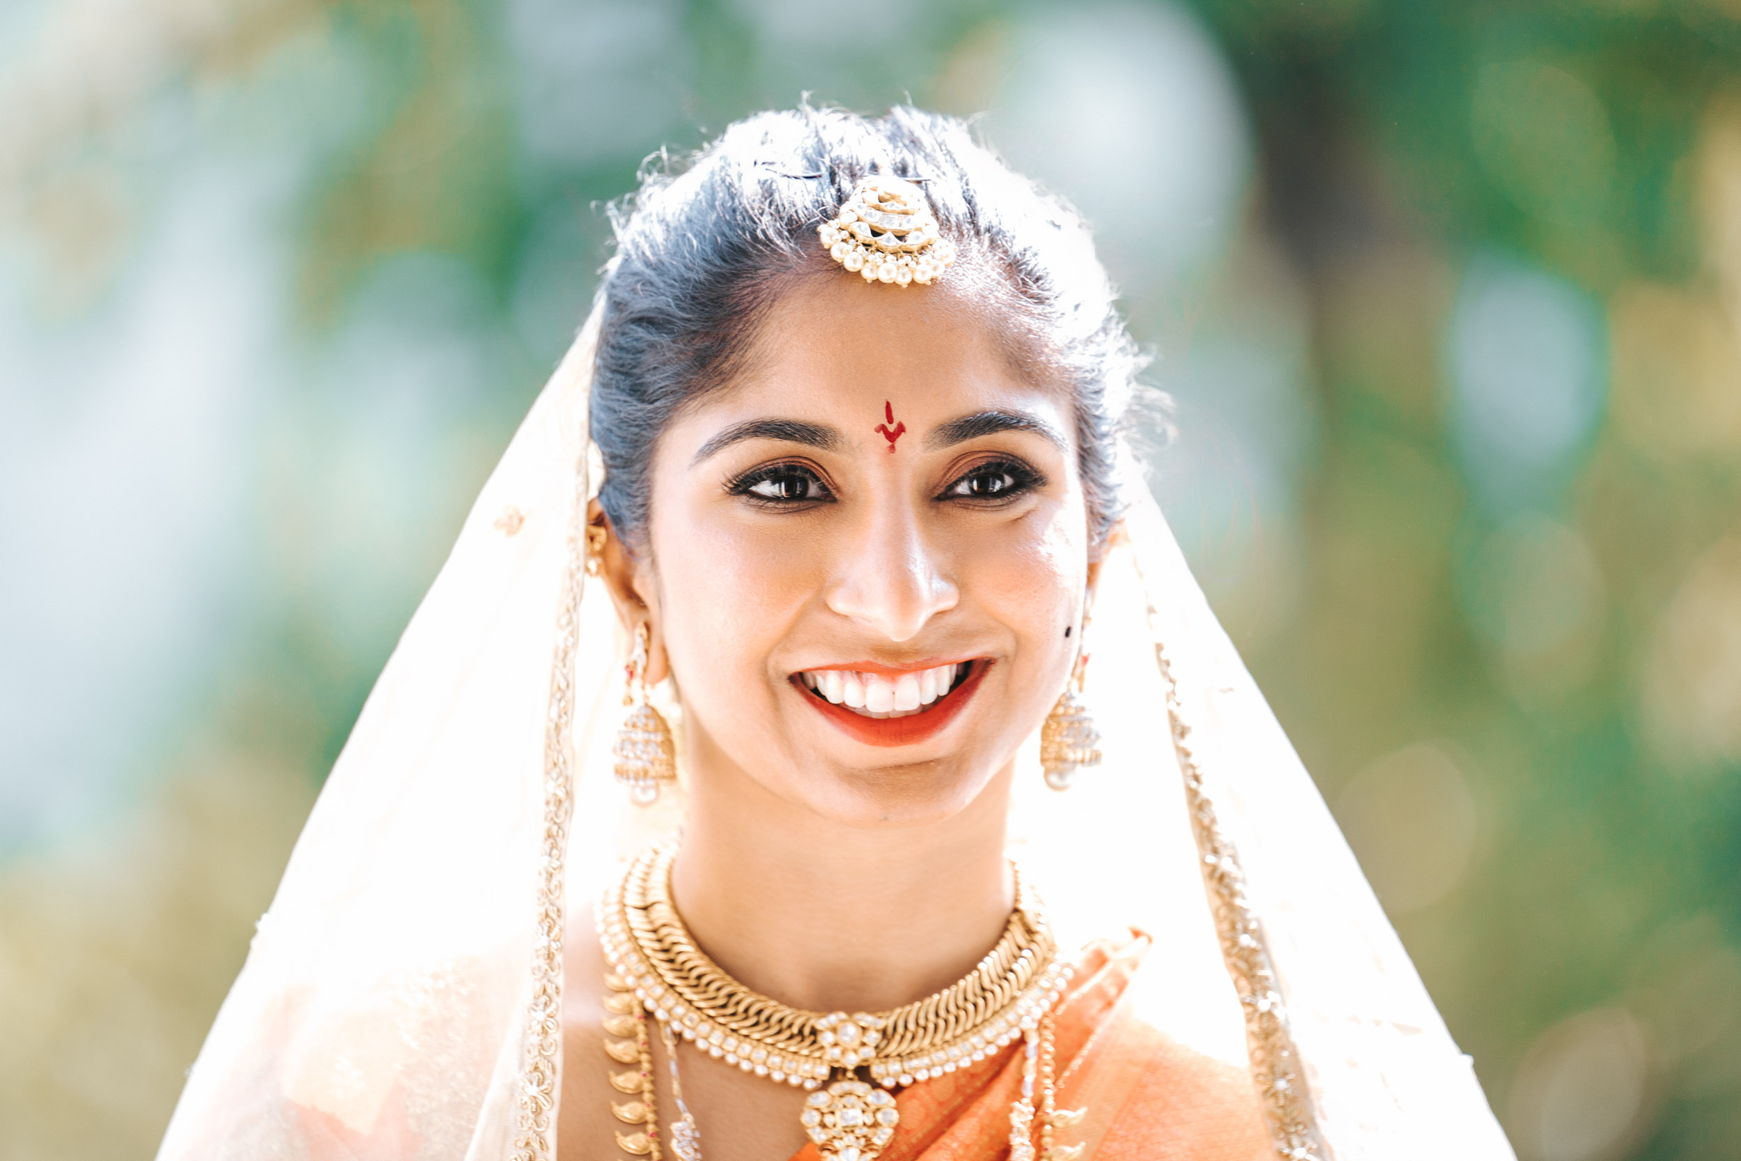
<path fill-rule="evenodd" d="M 851 738 L 897 747 L 940 733 L 966 708 L 989 668 L 984 658 L 914 670 L 860 663 L 803 670 L 792 674 L 792 684 L 806 703 Z"/>

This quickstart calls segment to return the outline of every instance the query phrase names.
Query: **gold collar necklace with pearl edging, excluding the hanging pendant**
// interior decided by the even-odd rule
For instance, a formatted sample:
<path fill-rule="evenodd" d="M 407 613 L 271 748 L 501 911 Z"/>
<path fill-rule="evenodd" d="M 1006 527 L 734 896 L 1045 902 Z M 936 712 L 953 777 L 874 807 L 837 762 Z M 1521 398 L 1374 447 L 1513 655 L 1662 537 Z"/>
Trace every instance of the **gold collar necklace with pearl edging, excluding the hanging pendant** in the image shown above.
<path fill-rule="evenodd" d="M 674 856 L 674 844 L 642 853 L 606 891 L 599 909 L 606 959 L 660 1023 L 756 1076 L 810 1090 L 836 1069 L 867 1069 L 883 1088 L 944 1076 L 1038 1027 L 1071 978 L 1017 876 L 1003 938 L 935 996 L 883 1013 L 787 1008 L 728 976 L 695 945 L 670 896 Z"/>

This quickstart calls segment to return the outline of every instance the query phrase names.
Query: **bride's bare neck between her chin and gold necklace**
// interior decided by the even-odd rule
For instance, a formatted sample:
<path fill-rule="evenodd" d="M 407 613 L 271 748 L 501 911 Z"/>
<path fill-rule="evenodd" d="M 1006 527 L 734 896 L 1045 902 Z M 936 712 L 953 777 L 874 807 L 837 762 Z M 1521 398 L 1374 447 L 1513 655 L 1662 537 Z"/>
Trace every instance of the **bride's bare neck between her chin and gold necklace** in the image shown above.
<path fill-rule="evenodd" d="M 677 910 L 728 975 L 792 1008 L 923 999 L 971 971 L 1010 919 L 1012 775 L 951 818 L 865 829 L 709 762 L 672 867 Z"/>

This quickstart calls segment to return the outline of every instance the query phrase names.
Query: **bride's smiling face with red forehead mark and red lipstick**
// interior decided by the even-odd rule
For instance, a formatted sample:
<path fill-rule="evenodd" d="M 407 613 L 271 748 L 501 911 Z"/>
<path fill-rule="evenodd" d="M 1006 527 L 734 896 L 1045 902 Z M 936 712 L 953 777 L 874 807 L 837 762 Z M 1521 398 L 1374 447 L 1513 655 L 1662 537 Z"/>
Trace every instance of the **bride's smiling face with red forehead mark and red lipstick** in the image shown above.
<path fill-rule="evenodd" d="M 810 284 L 749 355 L 660 439 L 634 580 L 696 776 L 857 825 L 945 818 L 1074 658 L 1069 395 L 945 287 Z"/>

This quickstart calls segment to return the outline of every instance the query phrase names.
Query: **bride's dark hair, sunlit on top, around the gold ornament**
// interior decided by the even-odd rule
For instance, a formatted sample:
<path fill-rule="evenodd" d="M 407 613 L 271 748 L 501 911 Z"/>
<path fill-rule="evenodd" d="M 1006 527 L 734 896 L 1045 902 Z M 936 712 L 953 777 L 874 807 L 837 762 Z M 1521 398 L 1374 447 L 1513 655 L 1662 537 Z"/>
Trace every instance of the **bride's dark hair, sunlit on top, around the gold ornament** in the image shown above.
<path fill-rule="evenodd" d="M 641 543 L 653 449 L 679 409 L 729 381 L 761 313 L 794 282 L 844 277 L 817 226 L 870 172 L 923 181 L 959 254 L 945 282 L 1003 327 L 1024 371 L 1071 392 L 1093 543 L 1118 520 L 1116 444 L 1144 360 L 1081 218 L 954 117 L 799 108 L 742 120 L 684 165 L 660 155 L 613 207 L 592 439 L 599 503 L 627 543 Z"/>

